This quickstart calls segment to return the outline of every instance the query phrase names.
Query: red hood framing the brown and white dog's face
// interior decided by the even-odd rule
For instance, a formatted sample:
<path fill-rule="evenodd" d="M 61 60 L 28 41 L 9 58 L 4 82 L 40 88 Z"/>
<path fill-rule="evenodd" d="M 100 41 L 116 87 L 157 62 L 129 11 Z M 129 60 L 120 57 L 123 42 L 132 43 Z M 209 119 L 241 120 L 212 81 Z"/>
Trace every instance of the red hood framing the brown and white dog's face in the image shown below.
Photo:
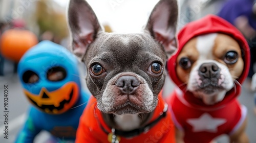
<path fill-rule="evenodd" d="M 176 85 L 182 85 L 182 86 L 179 86 L 179 88 L 183 92 L 189 92 L 189 91 L 186 91 L 186 85 L 184 85 L 184 83 L 178 78 L 176 74 L 176 60 L 178 58 L 178 55 L 183 49 L 183 46 L 190 39 L 197 37 L 199 35 L 210 34 L 210 33 L 226 34 L 238 41 L 243 53 L 242 58 L 244 60 L 244 70 L 242 75 L 239 77 L 239 79 L 237 79 L 237 81 L 240 84 L 242 84 L 248 75 L 249 66 L 250 66 L 250 50 L 249 50 L 247 41 L 245 40 L 242 33 L 236 27 L 232 26 L 229 22 L 227 22 L 223 18 L 216 15 L 207 15 L 199 20 L 188 23 L 185 27 L 181 29 L 181 31 L 178 33 L 178 41 L 179 41 L 178 50 L 167 62 L 167 69 L 168 69 L 169 76 L 172 78 L 172 80 L 175 82 Z M 226 96 L 222 102 L 219 102 L 215 105 L 204 105 L 203 103 L 198 102 L 197 106 L 212 107 L 212 106 L 223 105 L 231 101 L 232 99 L 236 98 L 240 94 L 241 86 L 238 83 L 236 83 L 235 87 L 236 89 L 231 89 L 230 91 L 227 92 L 229 96 Z M 194 100 L 193 98 L 195 97 L 186 96 L 184 98 L 190 101 L 190 100 Z"/>

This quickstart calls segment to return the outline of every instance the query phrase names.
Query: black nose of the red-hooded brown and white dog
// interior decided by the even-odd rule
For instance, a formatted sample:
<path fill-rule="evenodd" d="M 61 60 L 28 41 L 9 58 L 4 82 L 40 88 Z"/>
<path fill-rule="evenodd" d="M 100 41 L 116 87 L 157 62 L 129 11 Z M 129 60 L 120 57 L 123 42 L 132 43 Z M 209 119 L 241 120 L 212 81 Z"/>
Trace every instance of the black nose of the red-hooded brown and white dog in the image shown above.
<path fill-rule="evenodd" d="M 202 75 L 205 78 L 216 77 L 216 75 L 220 72 L 220 68 L 215 63 L 203 63 L 199 67 L 199 75 Z"/>

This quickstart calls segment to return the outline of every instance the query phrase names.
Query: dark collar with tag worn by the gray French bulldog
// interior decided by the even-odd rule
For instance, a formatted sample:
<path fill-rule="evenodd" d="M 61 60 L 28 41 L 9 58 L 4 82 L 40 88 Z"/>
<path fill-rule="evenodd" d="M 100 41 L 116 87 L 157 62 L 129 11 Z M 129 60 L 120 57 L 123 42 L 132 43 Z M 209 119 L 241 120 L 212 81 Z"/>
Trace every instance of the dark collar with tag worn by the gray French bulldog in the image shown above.
<path fill-rule="evenodd" d="M 144 127 L 134 129 L 131 131 L 121 131 L 121 130 L 112 128 L 111 130 L 112 132 L 110 133 L 101 124 L 100 124 L 100 127 L 106 134 L 108 134 L 109 141 L 117 143 L 119 142 L 118 140 L 120 140 L 119 136 L 125 137 L 125 138 L 132 138 L 134 136 L 140 135 L 141 133 L 148 132 L 153 126 L 155 126 L 162 118 L 166 116 L 167 109 L 168 109 L 168 105 L 165 103 L 163 111 L 159 113 L 159 116 L 158 118 L 156 118 L 156 120 L 154 120 L 151 123 L 148 123 Z"/>

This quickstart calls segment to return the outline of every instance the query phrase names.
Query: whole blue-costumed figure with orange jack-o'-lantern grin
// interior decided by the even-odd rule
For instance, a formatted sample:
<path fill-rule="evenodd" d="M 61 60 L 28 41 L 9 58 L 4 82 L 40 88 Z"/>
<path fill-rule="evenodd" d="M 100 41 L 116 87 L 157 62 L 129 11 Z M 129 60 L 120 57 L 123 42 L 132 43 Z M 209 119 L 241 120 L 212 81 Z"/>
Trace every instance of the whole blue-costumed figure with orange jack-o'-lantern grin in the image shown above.
<path fill-rule="evenodd" d="M 90 97 L 81 89 L 76 58 L 65 47 L 42 41 L 19 61 L 18 76 L 33 106 L 16 142 L 33 142 L 41 130 L 55 140 L 74 141 Z"/>

